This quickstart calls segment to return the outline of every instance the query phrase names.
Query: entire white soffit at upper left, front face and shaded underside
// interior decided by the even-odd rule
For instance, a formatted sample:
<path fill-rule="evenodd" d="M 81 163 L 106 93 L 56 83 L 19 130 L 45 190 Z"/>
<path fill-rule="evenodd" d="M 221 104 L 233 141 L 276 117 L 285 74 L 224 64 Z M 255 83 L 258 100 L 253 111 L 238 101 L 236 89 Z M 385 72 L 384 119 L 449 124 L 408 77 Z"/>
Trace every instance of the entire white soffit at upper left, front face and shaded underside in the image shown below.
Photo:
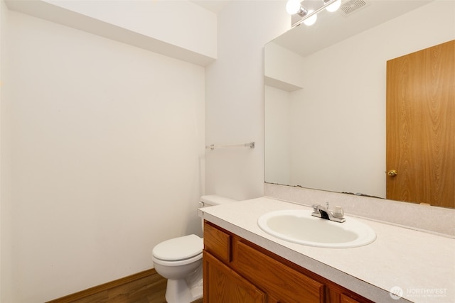
<path fill-rule="evenodd" d="M 216 58 L 216 15 L 188 0 L 5 0 L 12 11 L 197 65 Z"/>

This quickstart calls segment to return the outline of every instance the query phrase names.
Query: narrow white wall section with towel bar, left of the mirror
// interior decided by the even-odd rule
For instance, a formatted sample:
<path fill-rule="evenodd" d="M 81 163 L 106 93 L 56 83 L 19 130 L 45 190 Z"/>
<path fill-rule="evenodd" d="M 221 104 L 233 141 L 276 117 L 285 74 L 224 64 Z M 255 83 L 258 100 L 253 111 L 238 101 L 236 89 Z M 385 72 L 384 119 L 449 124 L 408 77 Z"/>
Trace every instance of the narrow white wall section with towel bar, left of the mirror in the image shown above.
<path fill-rule="evenodd" d="M 218 60 L 206 68 L 205 143 L 256 148 L 205 153 L 205 192 L 235 199 L 264 192 L 264 44 L 290 25 L 285 1 L 232 1 L 218 16 Z"/>

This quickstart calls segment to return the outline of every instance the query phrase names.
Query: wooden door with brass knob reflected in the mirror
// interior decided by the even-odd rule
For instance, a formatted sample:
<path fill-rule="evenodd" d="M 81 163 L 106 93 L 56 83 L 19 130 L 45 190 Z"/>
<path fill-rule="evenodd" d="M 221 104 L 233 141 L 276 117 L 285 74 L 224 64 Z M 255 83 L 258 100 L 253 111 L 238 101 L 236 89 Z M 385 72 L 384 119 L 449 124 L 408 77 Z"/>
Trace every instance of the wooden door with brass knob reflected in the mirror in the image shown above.
<path fill-rule="evenodd" d="M 455 207 L 455 40 L 387 61 L 387 199 Z"/>

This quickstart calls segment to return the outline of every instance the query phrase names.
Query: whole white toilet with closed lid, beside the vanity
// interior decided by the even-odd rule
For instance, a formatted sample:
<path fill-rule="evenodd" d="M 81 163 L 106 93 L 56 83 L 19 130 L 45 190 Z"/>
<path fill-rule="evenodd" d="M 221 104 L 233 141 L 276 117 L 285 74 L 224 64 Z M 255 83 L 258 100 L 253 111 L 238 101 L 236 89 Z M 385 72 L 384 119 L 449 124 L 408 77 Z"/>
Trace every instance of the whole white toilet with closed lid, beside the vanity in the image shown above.
<path fill-rule="evenodd" d="M 215 206 L 235 201 L 213 194 L 200 197 L 200 206 Z M 168 279 L 168 303 L 189 303 L 202 297 L 203 248 L 203 238 L 189 235 L 161 242 L 152 250 L 151 258 L 156 272 Z"/>

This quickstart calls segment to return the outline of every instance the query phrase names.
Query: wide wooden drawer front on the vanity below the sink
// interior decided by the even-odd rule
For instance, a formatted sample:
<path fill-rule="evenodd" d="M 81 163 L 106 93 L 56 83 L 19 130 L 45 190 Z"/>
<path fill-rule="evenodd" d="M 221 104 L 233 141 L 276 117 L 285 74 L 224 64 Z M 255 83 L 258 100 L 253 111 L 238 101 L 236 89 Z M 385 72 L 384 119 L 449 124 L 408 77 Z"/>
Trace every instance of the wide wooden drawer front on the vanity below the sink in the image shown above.
<path fill-rule="evenodd" d="M 240 275 L 255 281 L 257 287 L 279 299 L 279 302 L 325 302 L 322 283 L 240 241 L 236 260 Z"/>

